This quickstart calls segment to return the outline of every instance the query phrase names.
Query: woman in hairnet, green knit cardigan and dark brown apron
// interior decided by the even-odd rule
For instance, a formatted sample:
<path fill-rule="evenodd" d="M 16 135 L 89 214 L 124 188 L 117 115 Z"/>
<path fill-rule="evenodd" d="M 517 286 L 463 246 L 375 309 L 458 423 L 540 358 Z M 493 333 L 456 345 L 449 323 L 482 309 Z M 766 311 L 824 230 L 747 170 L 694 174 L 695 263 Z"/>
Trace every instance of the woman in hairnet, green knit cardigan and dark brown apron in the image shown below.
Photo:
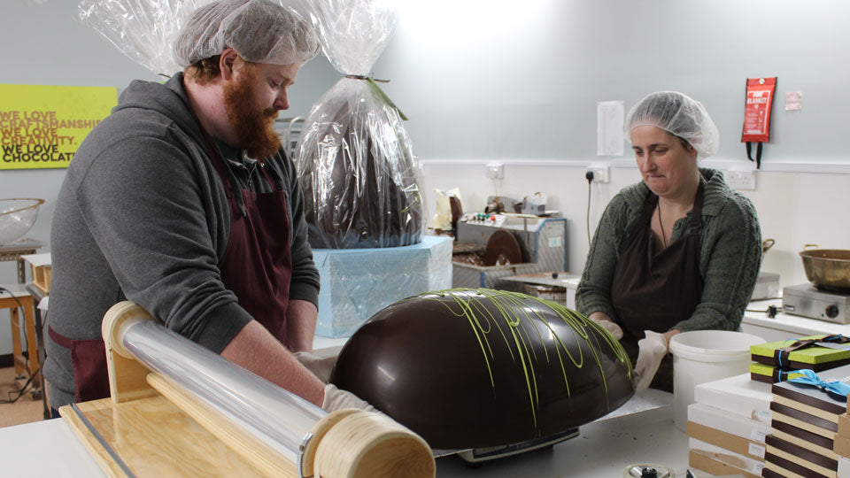
<path fill-rule="evenodd" d="M 622 339 L 638 391 L 650 382 L 672 391 L 673 335 L 740 327 L 761 266 L 761 229 L 753 204 L 722 173 L 697 166 L 719 142 L 698 101 L 650 94 L 630 110 L 626 131 L 643 181 L 607 205 L 576 306 Z"/>

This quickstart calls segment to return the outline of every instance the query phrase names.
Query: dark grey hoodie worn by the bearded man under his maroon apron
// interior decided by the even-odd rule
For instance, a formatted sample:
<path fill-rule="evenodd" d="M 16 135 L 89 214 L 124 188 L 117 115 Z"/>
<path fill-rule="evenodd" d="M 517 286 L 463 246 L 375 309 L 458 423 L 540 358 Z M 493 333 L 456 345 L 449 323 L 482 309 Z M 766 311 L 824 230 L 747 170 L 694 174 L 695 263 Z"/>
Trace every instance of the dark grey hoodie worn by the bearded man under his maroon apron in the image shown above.
<path fill-rule="evenodd" d="M 225 162 L 230 181 L 246 188 L 250 170 Z M 306 239 L 297 174 L 283 150 L 266 158 L 266 165 L 287 189 L 290 300 L 317 304 L 319 273 Z M 268 192 L 259 168 L 252 174 L 256 190 Z M 131 83 L 112 115 L 81 144 L 59 191 L 50 233 L 47 325 L 72 340 L 97 339 L 106 310 L 129 299 L 167 328 L 220 353 L 251 320 L 224 287 L 217 266 L 230 236 L 224 188 L 182 73 L 165 84 Z M 44 336 L 44 377 L 50 403 L 58 408 L 73 401 L 71 351 L 47 331 Z"/>

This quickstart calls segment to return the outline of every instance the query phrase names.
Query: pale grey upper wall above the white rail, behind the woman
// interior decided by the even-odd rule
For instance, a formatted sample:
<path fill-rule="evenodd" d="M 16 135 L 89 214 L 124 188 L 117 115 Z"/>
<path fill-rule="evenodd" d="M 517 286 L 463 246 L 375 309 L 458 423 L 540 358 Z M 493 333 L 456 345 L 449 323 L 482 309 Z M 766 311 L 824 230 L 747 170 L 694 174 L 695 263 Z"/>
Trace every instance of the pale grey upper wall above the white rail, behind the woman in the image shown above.
<path fill-rule="evenodd" d="M 778 76 L 766 160 L 846 161 L 848 24 L 838 0 L 408 2 L 375 76 L 424 159 L 595 158 L 596 102 L 661 89 L 706 105 L 719 157 L 746 158 L 745 80 Z"/>

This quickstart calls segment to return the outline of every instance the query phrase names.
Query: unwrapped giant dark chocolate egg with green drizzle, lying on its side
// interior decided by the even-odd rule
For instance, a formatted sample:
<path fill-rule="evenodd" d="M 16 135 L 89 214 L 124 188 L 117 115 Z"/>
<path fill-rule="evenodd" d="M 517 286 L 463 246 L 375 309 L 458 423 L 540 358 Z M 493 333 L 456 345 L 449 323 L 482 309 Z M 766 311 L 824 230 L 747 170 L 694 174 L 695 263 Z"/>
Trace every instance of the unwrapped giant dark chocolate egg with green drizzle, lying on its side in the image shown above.
<path fill-rule="evenodd" d="M 331 382 L 437 449 L 552 436 L 634 393 L 629 358 L 595 322 L 491 289 L 429 292 L 377 312 L 340 351 Z"/>

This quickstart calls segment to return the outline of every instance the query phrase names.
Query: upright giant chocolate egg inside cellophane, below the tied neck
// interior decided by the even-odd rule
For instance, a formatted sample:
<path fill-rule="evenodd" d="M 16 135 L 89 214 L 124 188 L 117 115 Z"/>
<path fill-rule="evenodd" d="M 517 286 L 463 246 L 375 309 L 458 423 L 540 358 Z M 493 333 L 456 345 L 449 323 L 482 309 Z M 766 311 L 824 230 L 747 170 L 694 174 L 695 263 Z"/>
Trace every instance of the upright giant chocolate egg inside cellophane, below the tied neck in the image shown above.
<path fill-rule="evenodd" d="M 313 105 L 296 158 L 313 248 L 421 242 L 418 169 L 395 108 L 364 80 L 343 78 Z"/>

